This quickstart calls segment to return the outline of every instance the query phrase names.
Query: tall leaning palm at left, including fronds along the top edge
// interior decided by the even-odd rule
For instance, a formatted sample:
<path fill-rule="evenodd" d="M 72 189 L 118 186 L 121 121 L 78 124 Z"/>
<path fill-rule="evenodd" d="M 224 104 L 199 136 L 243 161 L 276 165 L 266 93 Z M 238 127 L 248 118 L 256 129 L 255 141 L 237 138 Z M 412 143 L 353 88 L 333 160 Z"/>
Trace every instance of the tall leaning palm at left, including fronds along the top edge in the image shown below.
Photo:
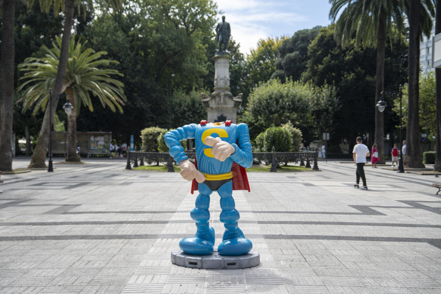
<path fill-rule="evenodd" d="M 119 10 L 123 6 L 124 0 L 85 0 L 87 5 L 93 6 L 94 3 L 103 11 L 107 11 L 109 9 Z M 28 0 L 29 7 L 32 7 L 34 0 Z M 63 93 L 63 83 L 64 83 L 64 75 L 66 73 L 66 67 L 68 62 L 68 54 L 69 54 L 69 42 L 71 40 L 71 30 L 73 24 L 73 9 L 74 9 L 74 0 L 40 0 L 40 7 L 44 7 L 46 12 L 49 11 L 51 4 L 54 4 L 54 12 L 58 13 L 58 11 L 63 10 L 65 15 L 65 23 L 63 29 L 63 38 L 61 42 L 61 50 L 60 50 L 60 62 L 57 68 L 57 76 L 55 79 L 55 83 L 53 85 L 53 95 L 59 95 Z M 80 3 L 80 1 L 78 1 Z M 37 145 L 35 146 L 34 153 L 32 154 L 31 162 L 29 164 L 29 168 L 44 168 L 46 167 L 46 149 L 49 145 L 49 116 L 53 118 L 55 114 L 55 109 L 58 101 L 53 100 L 50 101 L 52 104 L 52 113 L 49 113 L 50 107 L 48 107 L 45 111 L 45 116 L 43 118 L 43 123 L 41 126 L 40 134 L 38 136 Z M 52 120 L 53 121 L 53 120 Z M 1 150 L 0 150 L 1 151 Z"/>

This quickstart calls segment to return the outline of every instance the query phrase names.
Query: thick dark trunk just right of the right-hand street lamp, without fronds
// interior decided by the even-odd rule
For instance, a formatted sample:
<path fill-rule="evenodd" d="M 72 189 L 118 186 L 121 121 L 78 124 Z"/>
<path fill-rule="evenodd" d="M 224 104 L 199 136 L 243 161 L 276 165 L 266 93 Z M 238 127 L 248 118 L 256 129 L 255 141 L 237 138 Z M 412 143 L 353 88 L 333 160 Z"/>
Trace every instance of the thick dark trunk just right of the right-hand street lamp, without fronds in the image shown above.
<path fill-rule="evenodd" d="M 419 134 L 419 11 L 420 0 L 410 0 L 409 9 L 409 106 L 407 112 L 407 147 L 404 165 L 424 168 Z"/>

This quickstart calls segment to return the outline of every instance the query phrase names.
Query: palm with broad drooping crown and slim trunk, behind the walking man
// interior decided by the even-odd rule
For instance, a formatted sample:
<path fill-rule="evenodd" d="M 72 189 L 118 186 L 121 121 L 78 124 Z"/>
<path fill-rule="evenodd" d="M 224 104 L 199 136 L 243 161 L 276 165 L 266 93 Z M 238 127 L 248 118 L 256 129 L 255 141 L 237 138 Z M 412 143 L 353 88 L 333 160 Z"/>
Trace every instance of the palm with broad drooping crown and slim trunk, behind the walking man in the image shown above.
<path fill-rule="evenodd" d="M 408 0 L 407 0 L 408 1 Z M 375 101 L 380 99 L 384 86 L 386 38 L 401 37 L 404 31 L 403 9 L 406 0 L 329 0 L 329 17 L 337 19 L 335 38 L 338 44 L 348 44 L 354 37 L 356 45 L 377 47 Z M 374 105 L 375 105 L 374 104 Z M 375 142 L 380 162 L 384 163 L 384 116 L 375 107 Z"/>

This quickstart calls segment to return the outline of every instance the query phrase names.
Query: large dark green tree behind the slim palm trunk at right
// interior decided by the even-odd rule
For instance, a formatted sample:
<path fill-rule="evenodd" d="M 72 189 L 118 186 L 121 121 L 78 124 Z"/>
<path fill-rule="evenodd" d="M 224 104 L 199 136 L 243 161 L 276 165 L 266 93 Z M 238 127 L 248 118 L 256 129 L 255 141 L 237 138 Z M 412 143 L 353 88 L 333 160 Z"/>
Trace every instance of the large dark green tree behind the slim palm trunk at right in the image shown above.
<path fill-rule="evenodd" d="M 308 50 L 308 66 L 303 74 L 304 81 L 321 86 L 335 86 L 338 103 L 341 107 L 333 116 L 334 131 L 331 146 L 337 146 L 342 139 L 352 142 L 360 134 L 374 133 L 375 105 L 375 59 L 376 50 L 355 47 L 353 42 L 343 49 L 334 40 L 333 25 L 320 29 L 318 37 Z M 396 41 L 393 50 L 386 46 L 385 90 L 397 90 L 400 83 L 406 80 L 407 47 Z M 392 99 L 387 99 L 385 110 L 385 132 L 395 130 L 399 123 L 393 114 Z M 392 133 L 393 134 L 393 133 Z M 366 142 L 372 144 L 373 142 Z"/>

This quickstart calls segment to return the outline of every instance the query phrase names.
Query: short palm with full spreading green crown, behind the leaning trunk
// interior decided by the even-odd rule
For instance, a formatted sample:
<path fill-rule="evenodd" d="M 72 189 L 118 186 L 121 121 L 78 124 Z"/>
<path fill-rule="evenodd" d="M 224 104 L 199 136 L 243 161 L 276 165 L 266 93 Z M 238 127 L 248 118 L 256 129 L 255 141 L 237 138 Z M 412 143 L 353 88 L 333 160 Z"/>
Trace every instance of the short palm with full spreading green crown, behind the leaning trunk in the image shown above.
<path fill-rule="evenodd" d="M 123 113 L 121 105 L 127 101 L 123 93 L 123 83 L 110 77 L 112 74 L 120 76 L 123 74 L 106 68 L 109 64 L 117 64 L 118 62 L 100 59 L 107 52 L 86 49 L 84 44 L 80 42 L 75 44 L 74 37 L 72 37 L 69 45 L 67 71 L 62 84 L 62 91 L 67 94 L 73 105 L 73 110 L 68 115 L 66 161 L 80 161 L 76 154 L 76 116 L 79 114 L 81 104 L 89 107 L 90 111 L 94 110 L 90 93 L 99 99 L 103 107 L 107 105 L 113 112 L 118 108 L 120 113 Z M 52 49 L 43 48 L 46 52 L 45 57 L 26 58 L 25 62 L 19 65 L 19 69 L 25 72 L 21 79 L 26 80 L 19 88 L 19 90 L 25 88 L 23 94 L 24 110 L 33 106 L 35 114 L 40 109 L 45 110 L 48 102 L 50 103 L 49 88 L 56 83 L 61 48 L 62 39 L 57 37 L 55 43 L 52 43 Z"/>

